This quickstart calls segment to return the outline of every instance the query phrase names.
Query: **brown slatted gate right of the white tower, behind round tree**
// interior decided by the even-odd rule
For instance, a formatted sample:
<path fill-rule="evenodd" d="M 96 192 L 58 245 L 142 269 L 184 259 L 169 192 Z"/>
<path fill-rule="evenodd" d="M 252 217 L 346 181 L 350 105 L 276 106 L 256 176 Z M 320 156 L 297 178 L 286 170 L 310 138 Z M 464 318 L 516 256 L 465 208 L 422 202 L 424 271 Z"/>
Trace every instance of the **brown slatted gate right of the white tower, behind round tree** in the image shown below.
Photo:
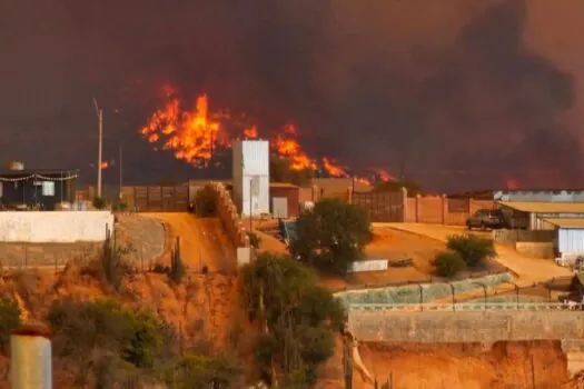
<path fill-rule="evenodd" d="M 373 222 L 404 221 L 404 193 L 353 192 L 353 203 L 362 207 Z"/>

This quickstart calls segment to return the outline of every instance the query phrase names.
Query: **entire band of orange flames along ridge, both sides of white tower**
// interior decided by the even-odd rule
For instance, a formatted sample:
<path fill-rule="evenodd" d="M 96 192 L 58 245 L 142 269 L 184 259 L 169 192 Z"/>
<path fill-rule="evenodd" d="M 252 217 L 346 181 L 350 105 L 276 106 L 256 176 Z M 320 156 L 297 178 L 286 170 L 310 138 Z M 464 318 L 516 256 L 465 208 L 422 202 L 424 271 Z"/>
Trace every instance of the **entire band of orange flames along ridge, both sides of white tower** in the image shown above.
<path fill-rule="evenodd" d="M 164 87 L 165 104 L 156 110 L 140 130 L 142 138 L 155 150 L 171 151 L 175 158 L 195 168 L 202 168 L 214 160 L 215 150 L 228 149 L 235 138 L 260 138 L 258 126 L 241 124 L 240 117 L 229 111 L 211 111 L 207 94 L 197 97 L 191 109 L 177 97 L 175 88 Z M 389 181 L 393 177 L 384 169 L 369 169 L 367 178 L 357 177 L 350 168 L 339 164 L 328 156 L 314 158 L 299 142 L 298 128 L 287 123 L 280 131 L 267 134 L 275 156 L 287 159 L 293 170 L 309 170 L 328 177 L 355 177 L 360 182 Z"/>

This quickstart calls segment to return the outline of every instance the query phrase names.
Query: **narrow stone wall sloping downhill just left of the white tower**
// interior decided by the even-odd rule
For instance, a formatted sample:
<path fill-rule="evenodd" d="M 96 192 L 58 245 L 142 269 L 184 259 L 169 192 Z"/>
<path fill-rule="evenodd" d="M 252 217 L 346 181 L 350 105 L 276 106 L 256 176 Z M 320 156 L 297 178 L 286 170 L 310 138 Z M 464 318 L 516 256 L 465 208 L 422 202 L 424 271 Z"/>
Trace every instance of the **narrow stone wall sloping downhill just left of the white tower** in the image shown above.
<path fill-rule="evenodd" d="M 231 200 L 231 194 L 225 189 L 225 186 L 219 182 L 210 182 L 205 184 L 215 193 L 215 206 L 217 215 L 221 219 L 221 222 L 227 231 L 227 235 L 234 242 L 235 247 L 249 247 L 249 238 L 247 237 L 244 223 L 239 218 L 237 208 Z"/>

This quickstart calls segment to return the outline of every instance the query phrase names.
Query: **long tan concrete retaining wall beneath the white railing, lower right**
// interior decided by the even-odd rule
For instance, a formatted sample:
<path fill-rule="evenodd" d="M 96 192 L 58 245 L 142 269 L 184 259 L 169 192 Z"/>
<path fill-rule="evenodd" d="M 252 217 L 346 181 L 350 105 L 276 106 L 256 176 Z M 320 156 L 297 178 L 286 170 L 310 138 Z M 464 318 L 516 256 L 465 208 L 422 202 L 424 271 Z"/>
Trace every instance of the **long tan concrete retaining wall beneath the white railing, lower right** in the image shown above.
<path fill-rule="evenodd" d="M 483 342 L 584 337 L 583 311 L 350 312 L 360 341 Z"/>

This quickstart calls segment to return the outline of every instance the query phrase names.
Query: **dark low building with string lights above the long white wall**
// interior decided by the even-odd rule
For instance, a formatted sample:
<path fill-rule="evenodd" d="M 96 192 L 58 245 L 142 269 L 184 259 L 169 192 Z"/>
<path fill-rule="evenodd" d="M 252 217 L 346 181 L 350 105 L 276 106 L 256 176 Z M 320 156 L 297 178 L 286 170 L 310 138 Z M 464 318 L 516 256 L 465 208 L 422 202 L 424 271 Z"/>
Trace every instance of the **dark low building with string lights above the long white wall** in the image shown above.
<path fill-rule="evenodd" d="M 73 202 L 78 170 L 12 169 L 0 171 L 2 209 L 55 210 Z"/>

